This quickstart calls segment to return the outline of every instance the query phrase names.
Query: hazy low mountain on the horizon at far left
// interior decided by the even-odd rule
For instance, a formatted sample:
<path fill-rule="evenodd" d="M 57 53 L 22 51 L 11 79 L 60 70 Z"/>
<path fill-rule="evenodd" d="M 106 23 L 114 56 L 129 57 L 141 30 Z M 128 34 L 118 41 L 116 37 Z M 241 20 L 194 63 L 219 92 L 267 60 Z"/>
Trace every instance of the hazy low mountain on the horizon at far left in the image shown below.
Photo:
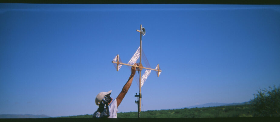
<path fill-rule="evenodd" d="M 0 114 L 0 118 L 49 118 L 49 116 L 32 114 Z"/>

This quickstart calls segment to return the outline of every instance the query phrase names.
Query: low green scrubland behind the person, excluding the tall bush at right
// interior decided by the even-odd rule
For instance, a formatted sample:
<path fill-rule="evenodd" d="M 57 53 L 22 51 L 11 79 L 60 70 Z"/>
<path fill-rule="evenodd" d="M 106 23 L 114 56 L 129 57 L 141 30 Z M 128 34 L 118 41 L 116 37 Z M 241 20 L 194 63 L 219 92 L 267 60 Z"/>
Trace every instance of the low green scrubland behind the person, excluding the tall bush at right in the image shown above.
<path fill-rule="evenodd" d="M 250 104 L 219 106 L 207 108 L 184 108 L 169 110 L 141 111 L 142 118 L 205 118 L 205 117 L 253 117 Z M 137 112 L 120 112 L 118 118 L 137 118 Z M 61 118 L 92 118 L 92 114 L 68 116 Z"/>

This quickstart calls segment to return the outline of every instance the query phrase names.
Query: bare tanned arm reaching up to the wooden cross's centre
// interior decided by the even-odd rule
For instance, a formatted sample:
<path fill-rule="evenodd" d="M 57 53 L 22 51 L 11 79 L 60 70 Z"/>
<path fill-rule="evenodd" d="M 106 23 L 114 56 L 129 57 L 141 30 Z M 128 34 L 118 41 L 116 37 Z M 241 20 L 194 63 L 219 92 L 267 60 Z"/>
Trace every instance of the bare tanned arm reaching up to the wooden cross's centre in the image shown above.
<path fill-rule="evenodd" d="M 136 63 L 135 63 L 136 64 Z M 134 65 L 135 65 L 134 64 Z M 125 83 L 125 85 L 123 86 L 122 88 L 122 91 L 121 93 L 118 95 L 118 97 L 116 98 L 117 99 L 117 107 L 118 105 L 121 104 L 122 102 L 122 99 L 125 97 L 125 94 L 127 93 L 128 89 L 130 88 L 130 85 L 132 83 L 132 80 L 133 80 L 133 77 L 135 75 L 135 71 L 136 71 L 136 67 L 132 66 L 131 67 L 131 75 L 129 76 L 128 78 L 128 81 Z"/>

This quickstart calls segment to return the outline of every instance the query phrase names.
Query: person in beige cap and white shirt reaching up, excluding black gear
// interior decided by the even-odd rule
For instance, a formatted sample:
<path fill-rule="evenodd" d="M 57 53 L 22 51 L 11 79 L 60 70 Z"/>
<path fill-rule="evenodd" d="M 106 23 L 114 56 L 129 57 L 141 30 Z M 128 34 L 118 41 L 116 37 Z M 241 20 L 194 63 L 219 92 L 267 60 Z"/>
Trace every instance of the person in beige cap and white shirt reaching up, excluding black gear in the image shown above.
<path fill-rule="evenodd" d="M 136 65 L 136 63 L 134 65 Z M 108 118 L 117 118 L 118 106 L 121 104 L 122 99 L 125 97 L 126 93 L 128 92 L 128 89 L 131 86 L 133 77 L 135 75 L 135 71 L 136 71 L 136 67 L 132 66 L 131 75 L 129 76 L 128 81 L 123 86 L 121 93 L 118 95 L 118 97 L 115 100 L 113 100 L 113 98 L 110 97 L 112 90 L 110 90 L 108 92 L 100 92 L 98 95 L 96 95 L 96 98 L 95 98 L 96 105 L 99 105 L 102 102 L 102 99 L 104 99 L 104 98 L 111 98 L 109 103 L 107 103 L 108 108 L 109 108 L 108 109 L 109 114 L 110 114 L 110 116 Z M 93 117 L 94 116 L 95 115 L 93 115 Z"/>

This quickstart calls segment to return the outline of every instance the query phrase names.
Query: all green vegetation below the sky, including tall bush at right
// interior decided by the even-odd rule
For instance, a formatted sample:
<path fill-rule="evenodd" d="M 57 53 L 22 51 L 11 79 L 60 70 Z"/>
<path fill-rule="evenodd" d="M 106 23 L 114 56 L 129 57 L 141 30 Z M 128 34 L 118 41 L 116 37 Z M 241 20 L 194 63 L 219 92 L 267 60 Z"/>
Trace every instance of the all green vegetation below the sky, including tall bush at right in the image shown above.
<path fill-rule="evenodd" d="M 142 111 L 142 118 L 201 118 L 201 117 L 280 117 L 280 86 L 260 90 L 248 104 L 207 108 L 184 108 Z M 137 112 L 118 113 L 119 118 L 137 118 Z M 92 118 L 92 114 L 60 118 Z"/>

